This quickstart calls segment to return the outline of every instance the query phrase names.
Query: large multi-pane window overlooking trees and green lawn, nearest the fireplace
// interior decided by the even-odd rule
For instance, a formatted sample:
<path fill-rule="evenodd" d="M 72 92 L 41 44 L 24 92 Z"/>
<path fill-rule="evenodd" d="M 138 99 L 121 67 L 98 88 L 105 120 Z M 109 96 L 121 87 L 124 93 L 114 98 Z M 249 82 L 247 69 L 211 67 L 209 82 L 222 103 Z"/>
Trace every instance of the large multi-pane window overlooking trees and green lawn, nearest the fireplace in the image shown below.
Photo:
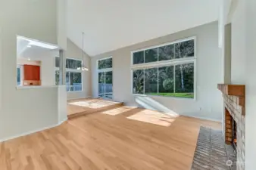
<path fill-rule="evenodd" d="M 133 94 L 194 98 L 194 63 L 195 39 L 134 52 Z"/>

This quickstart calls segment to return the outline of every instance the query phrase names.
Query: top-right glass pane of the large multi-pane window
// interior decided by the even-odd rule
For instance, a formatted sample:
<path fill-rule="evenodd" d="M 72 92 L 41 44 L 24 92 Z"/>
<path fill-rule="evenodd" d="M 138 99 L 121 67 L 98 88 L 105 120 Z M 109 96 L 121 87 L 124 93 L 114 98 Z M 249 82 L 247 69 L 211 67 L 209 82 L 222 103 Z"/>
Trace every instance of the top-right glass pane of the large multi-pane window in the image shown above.
<path fill-rule="evenodd" d="M 175 44 L 175 58 L 194 57 L 194 39 Z"/>

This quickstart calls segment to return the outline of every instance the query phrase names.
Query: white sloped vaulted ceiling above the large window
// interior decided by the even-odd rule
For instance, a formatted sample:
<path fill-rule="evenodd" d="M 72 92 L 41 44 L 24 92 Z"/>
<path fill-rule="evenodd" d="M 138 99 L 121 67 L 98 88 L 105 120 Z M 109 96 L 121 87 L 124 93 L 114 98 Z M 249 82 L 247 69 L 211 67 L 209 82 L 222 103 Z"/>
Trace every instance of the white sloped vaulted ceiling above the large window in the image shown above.
<path fill-rule="evenodd" d="M 220 0 L 67 1 L 67 36 L 90 56 L 166 36 L 218 18 Z"/>

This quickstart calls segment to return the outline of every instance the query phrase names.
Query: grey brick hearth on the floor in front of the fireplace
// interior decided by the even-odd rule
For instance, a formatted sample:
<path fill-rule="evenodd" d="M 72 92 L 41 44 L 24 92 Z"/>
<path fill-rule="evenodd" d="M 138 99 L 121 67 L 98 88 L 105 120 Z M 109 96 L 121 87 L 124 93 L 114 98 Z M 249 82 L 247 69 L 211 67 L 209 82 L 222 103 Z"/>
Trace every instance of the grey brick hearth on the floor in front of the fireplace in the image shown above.
<path fill-rule="evenodd" d="M 224 142 L 219 130 L 201 127 L 192 162 L 192 170 L 236 170 L 235 156 L 231 156 L 233 148 Z M 233 161 L 228 166 L 226 162 Z"/>

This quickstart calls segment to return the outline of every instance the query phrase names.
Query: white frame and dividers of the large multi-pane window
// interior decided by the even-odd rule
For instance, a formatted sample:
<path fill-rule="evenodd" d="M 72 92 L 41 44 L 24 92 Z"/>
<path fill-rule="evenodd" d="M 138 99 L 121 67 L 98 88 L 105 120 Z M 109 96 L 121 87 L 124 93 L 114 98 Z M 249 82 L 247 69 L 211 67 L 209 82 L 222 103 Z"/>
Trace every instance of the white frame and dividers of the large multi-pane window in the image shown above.
<path fill-rule="evenodd" d="M 189 40 L 194 40 L 194 57 L 184 57 L 184 58 L 174 58 L 172 60 L 161 60 L 161 61 L 155 61 L 155 62 L 150 62 L 150 63 L 136 63 L 133 64 L 133 53 L 139 52 L 139 51 L 144 51 L 144 61 L 145 61 L 145 50 L 148 49 L 154 49 L 154 48 L 158 48 L 158 59 L 159 59 L 159 48 L 166 46 L 166 45 L 173 45 L 179 42 L 186 42 Z M 142 96 L 142 97 L 146 97 L 146 96 L 151 96 L 151 97 L 171 97 L 171 98 L 175 98 L 175 99 L 180 99 L 180 100 L 196 100 L 196 61 L 197 61 L 197 40 L 195 36 L 189 37 L 189 38 L 185 38 L 185 39 L 179 39 L 179 40 L 175 40 L 173 42 L 167 42 L 167 43 L 163 43 L 161 45 L 155 45 L 155 46 L 150 46 L 148 48 L 142 48 L 142 49 L 138 49 L 135 51 L 131 51 L 131 92 L 134 96 Z M 193 98 L 188 98 L 188 97 L 175 97 L 175 96 L 161 96 L 161 95 L 150 95 L 150 94 L 145 94 L 145 79 L 144 79 L 144 94 L 135 94 L 133 93 L 133 70 L 146 70 L 146 69 L 150 69 L 150 68 L 158 68 L 162 67 L 162 66 L 176 66 L 179 64 L 183 64 L 183 63 L 194 63 L 194 97 Z M 175 67 L 174 67 L 175 68 Z M 175 70 L 175 69 L 174 69 Z M 144 71 L 145 72 L 145 71 Z M 158 79 L 159 80 L 159 79 Z M 173 81 L 175 82 L 175 72 L 174 72 L 174 76 L 173 76 Z M 159 91 L 159 89 L 158 89 Z M 174 83 L 174 91 L 175 91 L 175 83 Z"/>

